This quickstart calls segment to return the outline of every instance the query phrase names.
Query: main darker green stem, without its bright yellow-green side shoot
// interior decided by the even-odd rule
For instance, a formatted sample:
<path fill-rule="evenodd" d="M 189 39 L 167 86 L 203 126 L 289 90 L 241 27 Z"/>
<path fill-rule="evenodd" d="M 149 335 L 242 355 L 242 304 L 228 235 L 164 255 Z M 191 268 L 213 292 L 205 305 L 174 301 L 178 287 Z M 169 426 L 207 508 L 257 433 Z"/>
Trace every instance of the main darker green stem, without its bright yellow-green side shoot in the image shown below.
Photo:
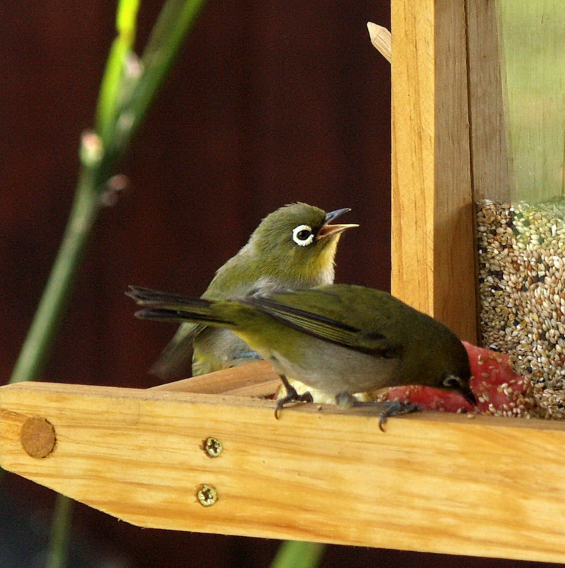
<path fill-rule="evenodd" d="M 157 90 L 172 66 L 186 32 L 196 20 L 203 3 L 204 0 L 165 2 L 141 58 L 143 73 L 138 78 L 135 88 L 129 85 L 133 93 L 131 100 L 125 105 L 121 114 L 112 114 L 116 121 L 114 128 L 106 127 L 114 133 L 114 137 L 108 141 L 105 148 L 102 148 L 100 160 L 83 160 L 63 241 L 28 336 L 13 369 L 11 383 L 37 380 L 42 374 L 59 329 L 71 285 L 81 265 L 93 224 L 100 212 L 101 189 L 105 187 L 105 182 L 114 173 L 117 162 L 129 147 L 131 137 L 143 121 L 150 103 L 153 102 Z M 137 6 L 132 6 L 131 9 L 136 11 Z M 129 27 L 131 28 L 131 24 Z M 105 82 L 106 78 L 102 83 Z M 114 90 L 114 96 L 119 96 L 118 90 Z"/>

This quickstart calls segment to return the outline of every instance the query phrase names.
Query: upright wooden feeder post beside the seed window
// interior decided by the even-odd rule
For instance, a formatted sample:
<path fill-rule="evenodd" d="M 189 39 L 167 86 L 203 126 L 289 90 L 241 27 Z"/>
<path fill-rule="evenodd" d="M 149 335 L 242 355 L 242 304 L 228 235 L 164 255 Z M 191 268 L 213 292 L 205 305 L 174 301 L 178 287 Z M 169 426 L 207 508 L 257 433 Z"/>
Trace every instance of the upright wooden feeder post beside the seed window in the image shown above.
<path fill-rule="evenodd" d="M 392 1 L 394 295 L 476 343 L 464 0 Z"/>

